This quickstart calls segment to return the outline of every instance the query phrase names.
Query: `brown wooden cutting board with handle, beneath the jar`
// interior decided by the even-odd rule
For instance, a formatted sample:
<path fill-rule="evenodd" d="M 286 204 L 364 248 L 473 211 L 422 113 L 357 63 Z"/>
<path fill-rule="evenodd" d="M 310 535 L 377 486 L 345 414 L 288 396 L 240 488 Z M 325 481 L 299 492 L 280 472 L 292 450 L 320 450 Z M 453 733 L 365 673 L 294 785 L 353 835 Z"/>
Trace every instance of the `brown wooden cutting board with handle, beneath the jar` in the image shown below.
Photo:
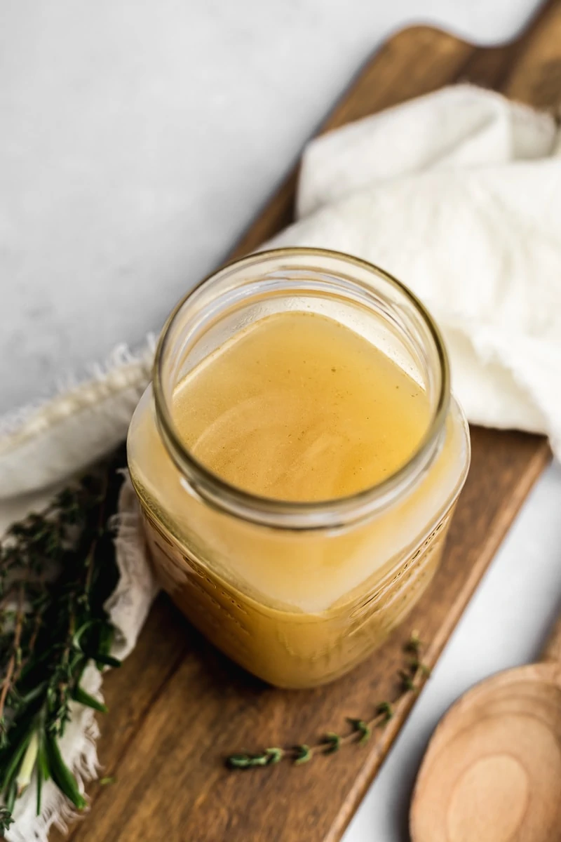
<path fill-rule="evenodd" d="M 470 81 L 555 108 L 561 99 L 561 3 L 520 40 L 480 49 L 426 26 L 394 35 L 363 69 L 325 129 L 373 114 L 444 84 Z M 292 220 L 294 173 L 236 254 Z M 411 628 L 434 664 L 505 531 L 550 458 L 545 440 L 474 428 L 473 460 L 442 568 L 406 628 L 336 684 L 306 692 L 262 685 L 214 651 L 165 597 L 156 601 L 135 652 L 108 674 L 109 714 L 99 757 L 111 786 L 93 784 L 91 813 L 72 842 L 334 842 L 340 839 L 398 733 L 400 711 L 364 747 L 310 765 L 229 772 L 240 749 L 300 743 L 371 715 L 386 698 Z M 407 706 L 405 706 L 407 707 Z"/>

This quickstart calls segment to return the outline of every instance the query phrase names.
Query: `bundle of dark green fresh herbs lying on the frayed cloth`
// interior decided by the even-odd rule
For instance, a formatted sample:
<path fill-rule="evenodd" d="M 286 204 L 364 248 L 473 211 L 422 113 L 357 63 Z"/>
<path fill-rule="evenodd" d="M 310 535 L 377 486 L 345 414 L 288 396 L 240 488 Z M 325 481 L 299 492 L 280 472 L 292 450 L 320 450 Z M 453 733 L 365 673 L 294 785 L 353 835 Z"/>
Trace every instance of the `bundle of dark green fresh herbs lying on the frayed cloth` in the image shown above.
<path fill-rule="evenodd" d="M 81 686 L 88 663 L 119 666 L 103 604 L 118 578 L 108 523 L 123 463 L 119 452 L 0 541 L 0 832 L 33 775 L 38 814 L 49 778 L 77 809 L 86 806 L 59 738 L 72 701 L 106 710 Z"/>

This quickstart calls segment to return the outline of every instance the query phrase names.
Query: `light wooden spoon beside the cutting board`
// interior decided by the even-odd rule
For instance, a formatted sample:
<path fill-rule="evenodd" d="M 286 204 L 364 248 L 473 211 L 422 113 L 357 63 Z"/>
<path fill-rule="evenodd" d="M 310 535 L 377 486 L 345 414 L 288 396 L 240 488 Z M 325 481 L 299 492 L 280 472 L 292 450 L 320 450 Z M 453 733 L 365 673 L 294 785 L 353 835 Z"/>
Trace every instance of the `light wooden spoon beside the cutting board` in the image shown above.
<path fill-rule="evenodd" d="M 413 842 L 561 838 L 561 617 L 542 663 L 468 690 L 431 738 L 415 783 Z"/>

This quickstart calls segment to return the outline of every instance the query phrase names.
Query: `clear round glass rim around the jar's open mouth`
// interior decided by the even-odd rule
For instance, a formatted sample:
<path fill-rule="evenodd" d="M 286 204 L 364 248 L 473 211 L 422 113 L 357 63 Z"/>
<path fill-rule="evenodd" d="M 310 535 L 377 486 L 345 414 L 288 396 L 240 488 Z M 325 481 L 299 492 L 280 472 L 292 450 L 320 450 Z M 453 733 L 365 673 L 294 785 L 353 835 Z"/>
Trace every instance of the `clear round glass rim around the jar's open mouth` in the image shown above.
<path fill-rule="evenodd" d="M 310 271 L 317 270 L 313 260 L 331 260 L 347 269 L 357 269 L 361 273 L 373 274 L 379 280 L 387 283 L 404 301 L 407 301 L 415 311 L 429 335 L 437 355 L 437 365 L 440 368 L 440 378 L 437 387 L 436 400 L 433 401 L 431 418 L 425 434 L 423 434 L 416 450 L 389 477 L 380 482 L 363 488 L 356 493 L 346 497 L 331 498 L 314 501 L 292 501 L 280 500 L 260 496 L 251 493 L 243 488 L 227 482 L 205 466 L 203 462 L 193 456 L 188 446 L 178 434 L 177 426 L 172 418 L 169 400 L 166 395 L 164 366 L 167 360 L 168 345 L 171 341 L 173 329 L 177 319 L 193 299 L 200 295 L 202 290 L 209 288 L 225 273 L 241 273 L 244 269 L 255 268 L 262 264 L 262 280 L 267 279 L 267 262 L 272 266 L 281 263 L 283 260 L 302 259 L 309 263 Z M 283 269 L 283 266 L 280 267 Z M 275 265 L 275 271 L 278 266 Z M 322 270 L 323 271 L 323 270 Z M 329 274 L 329 270 L 326 270 Z M 338 277 L 337 275 L 334 275 Z M 360 286 L 360 282 L 352 279 L 353 283 Z M 181 301 L 173 308 L 167 322 L 162 328 L 161 335 L 156 346 L 156 357 L 153 369 L 153 392 L 156 408 L 156 424 L 160 430 L 161 439 L 167 448 L 169 455 L 174 461 L 177 469 L 182 475 L 181 480 L 188 488 L 189 493 L 196 494 L 204 499 L 214 509 L 225 513 L 234 514 L 242 520 L 272 526 L 274 528 L 285 528 L 289 530 L 314 530 L 325 528 L 337 528 L 341 525 L 354 523 L 357 520 L 367 519 L 369 516 L 378 513 L 389 505 L 396 495 L 403 493 L 414 486 L 425 474 L 429 466 L 435 460 L 440 451 L 443 438 L 444 422 L 450 402 L 450 369 L 447 352 L 442 339 L 442 334 L 436 323 L 421 301 L 392 274 L 370 264 L 361 258 L 323 248 L 277 248 L 268 251 L 251 253 L 245 258 L 240 258 L 222 269 L 207 275 L 198 285 L 193 287 Z"/>

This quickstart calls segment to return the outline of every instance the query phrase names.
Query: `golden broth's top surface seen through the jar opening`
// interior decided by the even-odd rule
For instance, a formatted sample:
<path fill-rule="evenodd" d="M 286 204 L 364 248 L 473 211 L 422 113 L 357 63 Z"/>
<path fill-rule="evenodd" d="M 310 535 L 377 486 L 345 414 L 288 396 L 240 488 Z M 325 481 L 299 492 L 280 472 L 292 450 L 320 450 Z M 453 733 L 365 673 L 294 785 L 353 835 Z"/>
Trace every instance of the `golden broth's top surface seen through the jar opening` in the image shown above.
<path fill-rule="evenodd" d="M 340 322 L 255 322 L 177 386 L 172 416 L 198 461 L 254 494 L 345 497 L 391 476 L 430 423 L 426 392 Z"/>

